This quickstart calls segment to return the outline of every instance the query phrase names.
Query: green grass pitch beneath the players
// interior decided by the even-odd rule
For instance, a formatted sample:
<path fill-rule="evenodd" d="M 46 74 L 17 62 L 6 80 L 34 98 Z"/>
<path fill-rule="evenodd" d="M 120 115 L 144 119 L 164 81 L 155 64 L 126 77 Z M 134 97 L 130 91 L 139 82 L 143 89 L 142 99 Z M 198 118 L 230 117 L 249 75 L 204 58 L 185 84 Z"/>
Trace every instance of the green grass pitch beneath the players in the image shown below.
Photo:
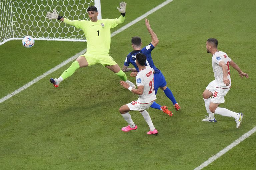
<path fill-rule="evenodd" d="M 124 24 L 162 2 L 127 0 Z M 102 17 L 119 17 L 118 4 L 102 0 Z M 139 112 L 130 112 L 138 129 L 121 131 L 127 124 L 118 109 L 138 96 L 99 64 L 78 69 L 54 88 L 49 78 L 59 77 L 69 63 L 0 104 L 0 169 L 189 170 L 201 165 L 256 125 L 255 6 L 253 0 L 174 0 L 147 17 L 160 41 L 152 51 L 154 63 L 181 106 L 174 111 L 158 90 L 157 102 L 173 111 L 168 117 L 148 110 L 158 135 L 146 134 L 149 128 Z M 120 67 L 133 36 L 140 36 L 143 45 L 151 41 L 144 20 L 111 39 L 110 55 Z M 231 68 L 232 88 L 221 105 L 244 113 L 239 129 L 232 118 L 220 115 L 215 124 L 201 121 L 206 115 L 202 92 L 214 79 L 208 38 L 218 39 L 218 49 L 249 74 L 241 79 Z M 85 42 L 36 41 L 32 48 L 6 42 L 0 46 L 0 98 L 85 47 Z M 255 141 L 253 134 L 204 169 L 255 169 Z"/>

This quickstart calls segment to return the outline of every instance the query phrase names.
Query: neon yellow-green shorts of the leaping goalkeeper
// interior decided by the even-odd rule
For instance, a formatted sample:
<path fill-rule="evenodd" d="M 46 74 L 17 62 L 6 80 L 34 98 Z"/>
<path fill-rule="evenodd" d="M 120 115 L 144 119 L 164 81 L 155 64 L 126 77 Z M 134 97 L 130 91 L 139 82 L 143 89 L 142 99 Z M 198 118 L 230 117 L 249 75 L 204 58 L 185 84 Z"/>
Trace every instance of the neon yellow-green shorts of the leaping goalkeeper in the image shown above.
<path fill-rule="evenodd" d="M 88 66 L 94 65 L 97 63 L 100 63 L 104 66 L 117 64 L 115 60 L 107 52 L 104 52 L 104 53 L 86 52 L 84 55 L 81 55 L 81 56 L 84 56 L 86 58 L 88 62 Z"/>

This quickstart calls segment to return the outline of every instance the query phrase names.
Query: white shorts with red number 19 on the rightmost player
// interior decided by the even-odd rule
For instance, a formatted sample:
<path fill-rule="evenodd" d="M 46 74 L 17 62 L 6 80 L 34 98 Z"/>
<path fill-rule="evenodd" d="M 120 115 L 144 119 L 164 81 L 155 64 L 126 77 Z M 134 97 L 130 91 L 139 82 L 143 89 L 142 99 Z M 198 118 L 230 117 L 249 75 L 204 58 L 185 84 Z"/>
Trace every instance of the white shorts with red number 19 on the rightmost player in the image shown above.
<path fill-rule="evenodd" d="M 224 96 L 226 96 L 226 94 L 230 90 L 230 87 L 229 88 L 216 87 L 216 81 L 213 80 L 208 84 L 206 89 L 212 92 L 211 102 L 220 104 L 225 102 Z"/>

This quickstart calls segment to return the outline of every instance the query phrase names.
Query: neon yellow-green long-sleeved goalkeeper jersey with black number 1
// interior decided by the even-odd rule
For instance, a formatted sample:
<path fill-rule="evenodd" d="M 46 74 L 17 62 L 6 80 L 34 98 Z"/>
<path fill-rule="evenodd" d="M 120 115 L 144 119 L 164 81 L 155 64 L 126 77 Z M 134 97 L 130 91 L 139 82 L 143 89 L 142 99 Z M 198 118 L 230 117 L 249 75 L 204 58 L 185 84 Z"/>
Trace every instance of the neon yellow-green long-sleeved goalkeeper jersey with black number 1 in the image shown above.
<path fill-rule="evenodd" d="M 110 29 L 124 22 L 122 15 L 117 19 L 102 19 L 97 22 L 64 19 L 64 23 L 80 28 L 87 40 L 87 52 L 109 52 Z"/>

